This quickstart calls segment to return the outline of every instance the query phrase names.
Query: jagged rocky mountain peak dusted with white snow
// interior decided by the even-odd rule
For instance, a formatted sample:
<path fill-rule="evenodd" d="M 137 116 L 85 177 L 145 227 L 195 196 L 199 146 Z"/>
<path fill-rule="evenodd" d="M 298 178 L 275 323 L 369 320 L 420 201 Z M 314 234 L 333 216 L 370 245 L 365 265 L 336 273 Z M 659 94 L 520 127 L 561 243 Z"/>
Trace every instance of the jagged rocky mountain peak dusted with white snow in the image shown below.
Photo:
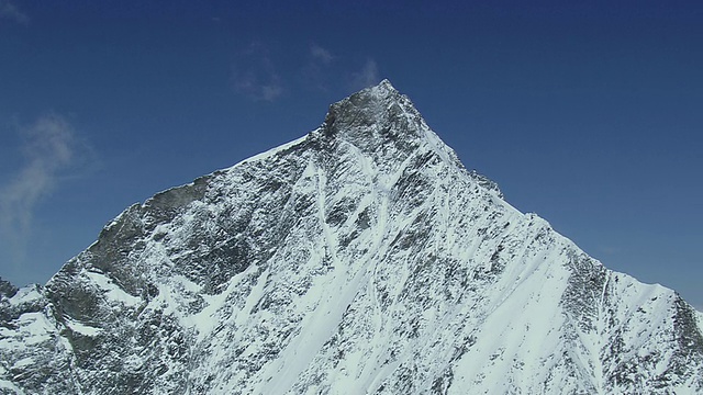
<path fill-rule="evenodd" d="M 468 171 L 388 81 L 0 284 L 2 394 L 694 394 L 703 314 Z"/>

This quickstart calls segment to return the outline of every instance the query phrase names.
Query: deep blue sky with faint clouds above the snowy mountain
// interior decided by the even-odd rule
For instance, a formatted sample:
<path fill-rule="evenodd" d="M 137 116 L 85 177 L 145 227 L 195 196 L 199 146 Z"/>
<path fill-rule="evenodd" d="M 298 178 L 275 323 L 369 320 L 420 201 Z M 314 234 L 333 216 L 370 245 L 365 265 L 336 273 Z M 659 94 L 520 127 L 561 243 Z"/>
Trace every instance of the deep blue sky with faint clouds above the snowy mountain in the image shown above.
<path fill-rule="evenodd" d="M 470 169 L 703 307 L 703 2 L 0 0 L 0 275 L 382 78 Z"/>

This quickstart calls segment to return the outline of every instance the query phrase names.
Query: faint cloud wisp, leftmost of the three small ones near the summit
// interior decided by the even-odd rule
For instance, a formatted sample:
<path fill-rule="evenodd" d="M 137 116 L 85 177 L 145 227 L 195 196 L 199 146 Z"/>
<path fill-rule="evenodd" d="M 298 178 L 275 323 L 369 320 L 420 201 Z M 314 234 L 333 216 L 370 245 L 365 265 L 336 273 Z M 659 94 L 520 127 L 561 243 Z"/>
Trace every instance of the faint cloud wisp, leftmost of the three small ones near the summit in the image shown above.
<path fill-rule="evenodd" d="M 252 44 L 235 59 L 232 79 L 237 92 L 256 101 L 272 102 L 284 91 L 269 50 L 260 43 Z"/>

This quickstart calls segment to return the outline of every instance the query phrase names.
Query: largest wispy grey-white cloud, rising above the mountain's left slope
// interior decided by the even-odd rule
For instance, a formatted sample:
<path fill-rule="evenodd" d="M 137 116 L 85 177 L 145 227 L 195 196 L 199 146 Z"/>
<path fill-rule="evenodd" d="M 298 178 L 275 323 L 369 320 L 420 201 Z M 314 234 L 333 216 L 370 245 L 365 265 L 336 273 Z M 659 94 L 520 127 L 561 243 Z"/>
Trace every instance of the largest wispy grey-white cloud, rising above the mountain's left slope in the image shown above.
<path fill-rule="evenodd" d="M 37 203 L 56 188 L 81 156 L 74 128 L 60 115 L 47 114 L 20 128 L 24 166 L 0 185 L 0 233 L 18 261 L 23 260 Z"/>

